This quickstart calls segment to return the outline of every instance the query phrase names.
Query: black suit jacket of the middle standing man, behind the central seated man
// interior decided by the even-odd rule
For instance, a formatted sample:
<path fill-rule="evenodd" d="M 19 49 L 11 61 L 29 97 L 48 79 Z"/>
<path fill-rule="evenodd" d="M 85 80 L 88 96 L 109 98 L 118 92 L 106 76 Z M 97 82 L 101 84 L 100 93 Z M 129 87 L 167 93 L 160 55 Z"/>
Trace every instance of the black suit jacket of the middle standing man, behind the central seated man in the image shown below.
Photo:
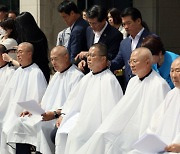
<path fill-rule="evenodd" d="M 94 32 L 90 26 L 87 28 L 86 38 L 87 47 L 89 49 L 94 44 Z M 119 50 L 119 44 L 122 39 L 123 35 L 121 32 L 108 24 L 98 42 L 106 44 L 109 60 L 112 60 L 116 57 Z"/>

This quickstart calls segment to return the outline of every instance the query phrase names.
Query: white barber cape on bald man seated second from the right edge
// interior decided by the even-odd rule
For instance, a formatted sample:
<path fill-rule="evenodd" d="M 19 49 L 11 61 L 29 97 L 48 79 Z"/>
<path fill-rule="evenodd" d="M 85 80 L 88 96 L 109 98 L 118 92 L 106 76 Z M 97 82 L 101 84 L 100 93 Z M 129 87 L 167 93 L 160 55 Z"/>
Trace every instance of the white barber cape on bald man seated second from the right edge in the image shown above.
<path fill-rule="evenodd" d="M 127 154 L 169 90 L 155 71 L 142 81 L 131 78 L 124 97 L 76 154 Z"/>

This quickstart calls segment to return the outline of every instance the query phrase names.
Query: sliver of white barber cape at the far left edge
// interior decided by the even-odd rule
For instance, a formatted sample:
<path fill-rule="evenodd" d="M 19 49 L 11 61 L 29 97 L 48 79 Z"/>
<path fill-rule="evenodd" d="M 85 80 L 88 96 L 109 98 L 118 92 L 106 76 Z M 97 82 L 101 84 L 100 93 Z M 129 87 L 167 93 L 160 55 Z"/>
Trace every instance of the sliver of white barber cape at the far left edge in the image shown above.
<path fill-rule="evenodd" d="M 14 68 L 9 67 L 8 63 L 0 67 L 0 97 L 14 71 Z"/>

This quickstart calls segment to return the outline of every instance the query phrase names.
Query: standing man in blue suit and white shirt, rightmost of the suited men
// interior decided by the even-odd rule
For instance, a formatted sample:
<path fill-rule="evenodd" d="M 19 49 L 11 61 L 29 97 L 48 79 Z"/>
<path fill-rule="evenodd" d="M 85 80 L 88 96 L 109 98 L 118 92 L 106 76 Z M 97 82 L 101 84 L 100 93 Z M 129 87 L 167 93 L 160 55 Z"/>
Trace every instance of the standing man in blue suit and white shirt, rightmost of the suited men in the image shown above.
<path fill-rule="evenodd" d="M 111 61 L 110 69 L 115 71 L 125 66 L 124 85 L 122 87 L 125 91 L 129 79 L 133 76 L 128 64 L 131 52 L 140 47 L 143 38 L 151 33 L 143 27 L 141 12 L 138 9 L 132 7 L 124 9 L 121 18 L 122 24 L 130 36 L 122 40 L 117 56 Z"/>

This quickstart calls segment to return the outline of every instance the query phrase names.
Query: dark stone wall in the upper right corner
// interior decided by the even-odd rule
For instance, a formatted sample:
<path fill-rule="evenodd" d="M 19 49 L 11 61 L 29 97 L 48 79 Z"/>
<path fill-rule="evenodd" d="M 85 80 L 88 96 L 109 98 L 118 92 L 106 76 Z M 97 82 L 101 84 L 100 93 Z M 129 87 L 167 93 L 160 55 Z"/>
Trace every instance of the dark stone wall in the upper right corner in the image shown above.
<path fill-rule="evenodd" d="M 161 37 L 165 49 L 180 54 L 180 0 L 134 0 L 133 5 Z"/>

